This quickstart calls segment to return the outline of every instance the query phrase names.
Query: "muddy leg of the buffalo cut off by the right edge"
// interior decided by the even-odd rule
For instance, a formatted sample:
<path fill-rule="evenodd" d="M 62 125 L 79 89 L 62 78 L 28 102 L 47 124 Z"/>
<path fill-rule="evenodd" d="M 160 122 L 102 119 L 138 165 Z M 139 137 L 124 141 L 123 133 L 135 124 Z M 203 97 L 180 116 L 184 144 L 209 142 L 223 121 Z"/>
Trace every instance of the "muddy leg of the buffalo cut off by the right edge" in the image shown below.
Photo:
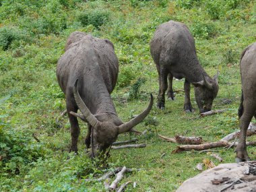
<path fill-rule="evenodd" d="M 236 147 L 236 162 L 250 160 L 246 147 L 246 135 L 251 119 L 255 115 L 256 104 L 253 100 L 244 102 L 243 104 L 244 111 L 243 115 L 240 118 L 240 136 L 238 145 Z"/>

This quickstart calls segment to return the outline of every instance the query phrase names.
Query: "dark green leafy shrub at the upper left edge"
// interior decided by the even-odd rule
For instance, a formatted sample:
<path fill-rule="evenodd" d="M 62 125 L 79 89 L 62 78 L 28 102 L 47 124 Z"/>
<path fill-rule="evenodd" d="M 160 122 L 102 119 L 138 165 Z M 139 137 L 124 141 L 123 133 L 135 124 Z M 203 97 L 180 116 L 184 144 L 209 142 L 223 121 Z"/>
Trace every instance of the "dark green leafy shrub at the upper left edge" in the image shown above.
<path fill-rule="evenodd" d="M 16 46 L 20 46 L 22 40 L 28 40 L 26 32 L 11 27 L 0 28 L 0 48 L 3 51 L 9 49 L 13 42 L 15 42 Z"/>

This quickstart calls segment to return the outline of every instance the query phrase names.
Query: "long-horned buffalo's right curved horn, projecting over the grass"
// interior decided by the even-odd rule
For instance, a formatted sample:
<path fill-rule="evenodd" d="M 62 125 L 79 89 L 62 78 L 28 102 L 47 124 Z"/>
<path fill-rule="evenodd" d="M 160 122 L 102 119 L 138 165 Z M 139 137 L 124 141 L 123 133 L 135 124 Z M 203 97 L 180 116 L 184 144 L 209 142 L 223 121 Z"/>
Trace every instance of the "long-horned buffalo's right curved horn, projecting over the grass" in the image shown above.
<path fill-rule="evenodd" d="M 150 113 L 150 110 L 153 106 L 153 101 L 154 101 L 153 96 L 152 94 L 150 94 L 150 104 L 148 105 L 148 107 L 145 110 L 143 110 L 141 114 L 137 115 L 137 117 L 131 119 L 131 121 L 124 123 L 122 125 L 119 125 L 118 127 L 119 133 L 124 133 L 126 131 L 129 131 L 135 125 L 143 121 L 143 119 L 145 119 L 145 117 L 147 117 L 147 115 Z"/>

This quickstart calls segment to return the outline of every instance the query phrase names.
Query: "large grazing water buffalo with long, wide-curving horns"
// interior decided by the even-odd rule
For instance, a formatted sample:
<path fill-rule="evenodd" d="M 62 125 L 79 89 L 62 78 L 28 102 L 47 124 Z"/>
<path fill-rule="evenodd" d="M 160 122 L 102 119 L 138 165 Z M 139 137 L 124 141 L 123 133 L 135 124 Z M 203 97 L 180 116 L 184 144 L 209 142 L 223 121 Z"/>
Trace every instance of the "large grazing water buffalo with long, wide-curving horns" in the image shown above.
<path fill-rule="evenodd" d="M 79 125 L 77 110 L 88 122 L 86 146 L 92 144 L 92 158 L 104 154 L 119 133 L 131 130 L 150 113 L 148 108 L 128 123 L 117 116 L 110 93 L 117 83 L 119 62 L 113 43 L 84 32 L 73 32 L 66 43 L 65 53 L 57 65 L 57 79 L 65 94 L 67 113 L 71 124 L 71 148 L 77 152 Z"/>

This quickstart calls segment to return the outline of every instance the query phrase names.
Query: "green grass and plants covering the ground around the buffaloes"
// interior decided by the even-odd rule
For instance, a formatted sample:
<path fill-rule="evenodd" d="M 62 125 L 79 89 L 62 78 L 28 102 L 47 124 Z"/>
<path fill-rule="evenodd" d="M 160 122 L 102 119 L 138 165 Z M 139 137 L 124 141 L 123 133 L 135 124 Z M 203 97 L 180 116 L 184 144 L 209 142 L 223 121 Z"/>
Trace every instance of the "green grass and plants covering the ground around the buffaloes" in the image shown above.
<path fill-rule="evenodd" d="M 237 108 L 241 94 L 240 53 L 256 41 L 256 3 L 241 0 L 1 0 L 0 1 L 0 191 L 104 191 L 103 183 L 86 183 L 106 169 L 117 166 L 142 168 L 126 174 L 137 181 L 127 191 L 175 191 L 183 181 L 198 174 L 197 163 L 206 153 L 171 154 L 176 144 L 156 136 L 201 136 L 217 141 L 238 129 Z M 113 150 L 108 167 L 94 164 L 84 152 L 86 125 L 80 122 L 79 155 L 69 154 L 67 117 L 55 120 L 65 110 L 65 98 L 55 75 L 65 40 L 76 30 L 115 45 L 120 70 L 113 100 L 123 121 L 148 104 L 158 93 L 158 75 L 149 42 L 156 27 L 168 20 L 187 24 L 195 37 L 197 55 L 210 75 L 220 71 L 220 90 L 214 109 L 226 113 L 198 118 L 183 113 L 183 92 L 166 110 L 152 109 L 136 129 L 143 149 Z M 174 81 L 174 90 L 183 81 Z M 130 96 L 131 99 L 127 100 Z M 231 100 L 227 104 L 226 100 Z M 38 138 L 37 142 L 34 137 Z M 250 139 L 255 139 L 251 137 Z M 234 162 L 234 150 L 217 149 L 224 162 Z M 161 158 L 161 155 L 166 153 Z M 252 159 L 256 149 L 249 148 Z"/>

